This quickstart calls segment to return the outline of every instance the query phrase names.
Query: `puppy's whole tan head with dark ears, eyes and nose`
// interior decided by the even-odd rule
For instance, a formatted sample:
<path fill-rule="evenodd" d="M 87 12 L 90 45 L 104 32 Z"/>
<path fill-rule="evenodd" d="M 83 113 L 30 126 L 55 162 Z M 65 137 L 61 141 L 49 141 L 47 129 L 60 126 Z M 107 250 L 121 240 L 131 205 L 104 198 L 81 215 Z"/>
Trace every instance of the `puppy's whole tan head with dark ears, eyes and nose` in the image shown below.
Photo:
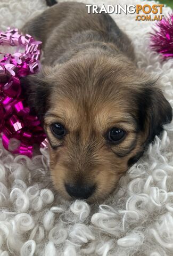
<path fill-rule="evenodd" d="M 159 89 L 122 57 L 78 58 L 26 79 L 43 116 L 54 186 L 67 199 L 108 196 L 172 118 Z"/>

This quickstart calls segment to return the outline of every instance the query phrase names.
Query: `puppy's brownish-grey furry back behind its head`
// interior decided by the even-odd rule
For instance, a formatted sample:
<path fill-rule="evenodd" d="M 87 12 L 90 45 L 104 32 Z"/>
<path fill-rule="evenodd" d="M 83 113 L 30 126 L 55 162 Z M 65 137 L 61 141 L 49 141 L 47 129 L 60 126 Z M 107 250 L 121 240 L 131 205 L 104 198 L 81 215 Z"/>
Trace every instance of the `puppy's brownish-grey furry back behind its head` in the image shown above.
<path fill-rule="evenodd" d="M 114 52 L 120 51 L 134 60 L 130 39 L 119 29 L 110 15 L 88 14 L 83 3 L 63 2 L 53 5 L 28 21 L 22 31 L 43 42 L 45 61 L 49 65 L 55 60 L 70 59 L 85 47 L 100 46 L 107 50 L 110 48 Z M 92 44 L 89 46 L 88 43 Z"/>

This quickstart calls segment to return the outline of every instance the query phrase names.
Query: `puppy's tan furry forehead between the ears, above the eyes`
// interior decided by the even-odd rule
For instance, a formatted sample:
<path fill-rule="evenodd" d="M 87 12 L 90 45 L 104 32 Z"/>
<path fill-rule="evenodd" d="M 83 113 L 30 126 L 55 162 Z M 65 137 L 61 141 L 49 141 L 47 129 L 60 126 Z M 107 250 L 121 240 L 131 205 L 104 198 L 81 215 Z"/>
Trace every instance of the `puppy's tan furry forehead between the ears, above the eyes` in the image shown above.
<path fill-rule="evenodd" d="M 80 65 L 79 65 L 80 63 Z M 105 127 L 131 123 L 135 108 L 129 68 L 106 58 L 78 60 L 63 65 L 52 76 L 54 84 L 47 114 L 59 117 L 70 129 L 87 123 Z M 130 84 L 128 86 L 127 84 Z"/>

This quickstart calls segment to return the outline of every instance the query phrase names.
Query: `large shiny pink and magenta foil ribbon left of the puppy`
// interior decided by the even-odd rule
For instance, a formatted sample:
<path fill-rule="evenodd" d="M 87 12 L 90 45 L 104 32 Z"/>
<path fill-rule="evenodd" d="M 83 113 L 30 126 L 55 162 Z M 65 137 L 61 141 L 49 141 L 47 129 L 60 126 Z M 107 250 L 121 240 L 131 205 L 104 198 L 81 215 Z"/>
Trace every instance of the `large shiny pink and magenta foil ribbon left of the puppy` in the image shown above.
<path fill-rule="evenodd" d="M 17 28 L 8 28 L 5 32 L 0 31 L 1 45 L 18 46 L 17 52 L 3 53 L 0 59 L 0 133 L 3 146 L 14 154 L 32 157 L 34 145 L 46 147 L 47 140 L 38 117 L 30 113 L 20 77 L 39 70 L 42 42 L 35 41 L 28 34 L 21 35 Z M 19 140 L 20 144 L 10 150 L 12 138 Z"/>

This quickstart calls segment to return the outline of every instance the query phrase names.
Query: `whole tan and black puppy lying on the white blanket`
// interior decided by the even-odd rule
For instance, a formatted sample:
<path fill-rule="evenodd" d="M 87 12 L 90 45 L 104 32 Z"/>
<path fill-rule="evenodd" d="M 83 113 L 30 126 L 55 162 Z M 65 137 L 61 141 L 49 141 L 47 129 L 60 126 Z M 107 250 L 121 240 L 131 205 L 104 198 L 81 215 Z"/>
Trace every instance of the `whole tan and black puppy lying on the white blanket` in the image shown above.
<path fill-rule="evenodd" d="M 21 82 L 47 134 L 54 186 L 65 199 L 104 199 L 171 122 L 171 106 L 108 14 L 64 2 L 22 31 L 43 42 L 42 70 Z"/>

